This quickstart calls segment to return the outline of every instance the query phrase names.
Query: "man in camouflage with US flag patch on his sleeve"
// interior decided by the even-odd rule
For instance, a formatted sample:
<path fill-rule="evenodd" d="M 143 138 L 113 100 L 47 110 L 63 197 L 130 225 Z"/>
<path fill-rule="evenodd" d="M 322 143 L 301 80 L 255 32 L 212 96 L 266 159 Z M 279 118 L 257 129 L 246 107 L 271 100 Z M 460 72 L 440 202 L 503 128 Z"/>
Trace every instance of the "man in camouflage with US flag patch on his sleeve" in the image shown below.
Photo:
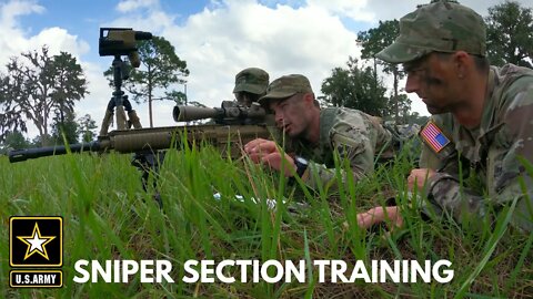
<path fill-rule="evenodd" d="M 455 1 L 433 1 L 403 17 L 395 42 L 376 54 L 403 63 L 405 90 L 433 114 L 421 131 L 421 168 L 408 178 L 428 198 L 419 203 L 422 210 L 479 223 L 516 200 L 511 224 L 532 231 L 533 181 L 519 157 L 533 163 L 533 70 L 490 66 L 485 55 L 483 19 Z M 462 186 L 469 174 L 483 190 Z M 401 223 L 396 207 L 386 213 Z M 363 227 L 383 218 L 380 207 L 359 216 Z"/>

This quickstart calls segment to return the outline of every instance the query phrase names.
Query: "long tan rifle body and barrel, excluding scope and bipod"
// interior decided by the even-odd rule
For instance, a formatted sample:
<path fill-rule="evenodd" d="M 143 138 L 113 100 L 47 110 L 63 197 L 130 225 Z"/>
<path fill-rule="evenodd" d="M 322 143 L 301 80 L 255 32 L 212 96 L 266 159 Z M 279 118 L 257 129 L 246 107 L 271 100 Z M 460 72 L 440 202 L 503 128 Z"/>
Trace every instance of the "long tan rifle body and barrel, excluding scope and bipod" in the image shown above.
<path fill-rule="evenodd" d="M 182 137 L 182 135 L 185 135 Z M 110 152 L 138 153 L 155 152 L 178 147 L 182 140 L 191 144 L 202 141 L 218 147 L 221 154 L 228 151 L 232 158 L 241 155 L 241 146 L 254 138 L 269 138 L 270 127 L 266 125 L 191 125 L 167 126 L 151 128 L 135 128 L 112 131 L 107 136 L 99 137 L 91 143 L 71 144 L 68 147 L 72 153 L 80 152 Z M 11 163 L 31 158 L 67 154 L 67 146 L 48 146 L 39 148 L 24 148 L 8 153 Z"/>

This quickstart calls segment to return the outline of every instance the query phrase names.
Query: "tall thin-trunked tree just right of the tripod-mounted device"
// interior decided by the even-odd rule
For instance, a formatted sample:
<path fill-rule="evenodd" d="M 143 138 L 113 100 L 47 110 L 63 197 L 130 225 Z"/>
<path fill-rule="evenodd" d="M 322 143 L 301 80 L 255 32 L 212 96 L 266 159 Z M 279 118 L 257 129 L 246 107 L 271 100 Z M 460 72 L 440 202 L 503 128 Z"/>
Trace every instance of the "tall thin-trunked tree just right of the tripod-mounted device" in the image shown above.
<path fill-rule="evenodd" d="M 141 100 L 148 101 L 150 127 L 153 127 L 152 101 L 171 100 L 180 103 L 184 99 L 184 94 L 175 90 L 163 92 L 160 96 L 155 96 L 155 92 L 167 90 L 172 84 L 184 84 L 189 70 L 187 62 L 175 54 L 174 47 L 164 38 L 153 37 L 151 40 L 140 41 L 138 52 L 142 68 L 132 69 L 123 85 L 137 103 Z M 109 69 L 104 75 L 112 78 L 113 70 Z"/>

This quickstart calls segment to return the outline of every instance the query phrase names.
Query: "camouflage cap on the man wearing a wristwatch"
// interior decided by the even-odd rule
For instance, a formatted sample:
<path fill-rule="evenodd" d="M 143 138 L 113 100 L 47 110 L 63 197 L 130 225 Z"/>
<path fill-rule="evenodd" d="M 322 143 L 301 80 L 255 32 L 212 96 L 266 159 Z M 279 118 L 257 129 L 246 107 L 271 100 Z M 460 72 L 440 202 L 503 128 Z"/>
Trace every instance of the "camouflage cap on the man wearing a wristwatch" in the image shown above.
<path fill-rule="evenodd" d="M 313 93 L 311 83 L 301 74 L 290 74 L 278 78 L 270 83 L 266 94 L 259 99 L 261 105 L 272 99 L 285 99 L 296 93 Z"/>

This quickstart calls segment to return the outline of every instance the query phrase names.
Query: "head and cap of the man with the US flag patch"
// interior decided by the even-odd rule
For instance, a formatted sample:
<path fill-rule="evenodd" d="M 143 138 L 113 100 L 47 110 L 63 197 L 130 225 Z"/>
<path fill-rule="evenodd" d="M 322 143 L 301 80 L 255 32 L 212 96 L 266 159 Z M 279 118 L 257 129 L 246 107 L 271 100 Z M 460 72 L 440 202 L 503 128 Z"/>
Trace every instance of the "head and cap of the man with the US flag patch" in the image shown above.
<path fill-rule="evenodd" d="M 405 91 L 415 92 L 430 113 L 453 112 L 472 80 L 489 72 L 485 31 L 472 9 L 434 0 L 401 18 L 400 35 L 375 56 L 403 64 Z"/>

